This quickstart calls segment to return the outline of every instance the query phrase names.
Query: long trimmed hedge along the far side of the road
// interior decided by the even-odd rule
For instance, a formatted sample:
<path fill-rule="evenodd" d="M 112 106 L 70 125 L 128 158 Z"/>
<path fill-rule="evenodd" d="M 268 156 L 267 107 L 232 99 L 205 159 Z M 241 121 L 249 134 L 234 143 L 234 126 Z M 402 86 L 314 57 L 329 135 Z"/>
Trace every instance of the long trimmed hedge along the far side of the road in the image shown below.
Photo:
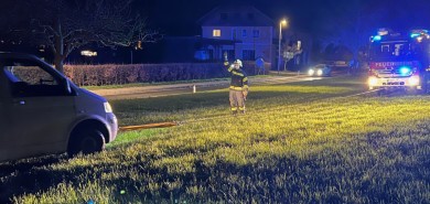
<path fill-rule="evenodd" d="M 254 63 L 246 63 L 244 67 L 248 75 L 254 75 L 256 72 Z M 228 76 L 222 63 L 65 65 L 64 73 L 78 86 L 192 80 Z"/>

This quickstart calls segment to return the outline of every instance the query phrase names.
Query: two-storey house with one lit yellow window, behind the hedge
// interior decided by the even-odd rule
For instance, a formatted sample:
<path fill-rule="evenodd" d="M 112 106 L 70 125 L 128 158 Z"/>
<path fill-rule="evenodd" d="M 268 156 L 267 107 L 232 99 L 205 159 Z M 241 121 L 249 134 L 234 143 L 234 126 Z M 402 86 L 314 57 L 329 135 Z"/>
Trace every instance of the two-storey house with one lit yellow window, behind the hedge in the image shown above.
<path fill-rule="evenodd" d="M 273 43 L 276 23 L 252 6 L 221 6 L 198 20 L 202 37 L 233 43 L 205 44 L 211 60 L 228 58 L 255 61 L 261 57 L 275 65 L 277 45 Z"/>

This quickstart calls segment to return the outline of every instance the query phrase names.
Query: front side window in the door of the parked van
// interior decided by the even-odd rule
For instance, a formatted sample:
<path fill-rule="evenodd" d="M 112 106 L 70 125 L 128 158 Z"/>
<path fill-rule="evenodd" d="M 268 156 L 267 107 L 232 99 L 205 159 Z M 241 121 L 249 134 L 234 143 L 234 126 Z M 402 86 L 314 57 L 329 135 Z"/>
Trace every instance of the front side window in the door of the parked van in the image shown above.
<path fill-rule="evenodd" d="M 13 62 L 3 66 L 13 97 L 58 96 L 64 88 L 58 79 L 39 65 Z"/>

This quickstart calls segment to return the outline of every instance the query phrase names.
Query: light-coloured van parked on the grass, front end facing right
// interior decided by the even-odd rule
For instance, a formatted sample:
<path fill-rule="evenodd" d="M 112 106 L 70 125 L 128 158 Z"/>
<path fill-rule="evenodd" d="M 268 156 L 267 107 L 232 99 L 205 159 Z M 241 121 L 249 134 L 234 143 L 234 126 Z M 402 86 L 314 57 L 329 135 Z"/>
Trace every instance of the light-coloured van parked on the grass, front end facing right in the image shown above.
<path fill-rule="evenodd" d="M 0 161 L 101 151 L 117 131 L 105 98 L 33 55 L 0 53 Z"/>

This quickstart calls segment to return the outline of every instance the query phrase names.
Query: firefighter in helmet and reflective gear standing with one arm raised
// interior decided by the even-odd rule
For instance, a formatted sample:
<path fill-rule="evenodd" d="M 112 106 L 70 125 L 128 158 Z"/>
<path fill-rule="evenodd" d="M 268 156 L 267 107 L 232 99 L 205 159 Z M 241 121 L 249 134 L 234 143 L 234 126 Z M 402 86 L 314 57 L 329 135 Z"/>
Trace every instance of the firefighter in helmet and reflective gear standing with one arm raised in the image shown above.
<path fill-rule="evenodd" d="M 240 60 L 236 60 L 232 65 L 228 61 L 224 62 L 227 71 L 232 74 L 229 87 L 229 100 L 233 115 L 237 112 L 245 114 L 245 100 L 248 96 L 248 77 L 241 69 L 243 64 Z"/>

